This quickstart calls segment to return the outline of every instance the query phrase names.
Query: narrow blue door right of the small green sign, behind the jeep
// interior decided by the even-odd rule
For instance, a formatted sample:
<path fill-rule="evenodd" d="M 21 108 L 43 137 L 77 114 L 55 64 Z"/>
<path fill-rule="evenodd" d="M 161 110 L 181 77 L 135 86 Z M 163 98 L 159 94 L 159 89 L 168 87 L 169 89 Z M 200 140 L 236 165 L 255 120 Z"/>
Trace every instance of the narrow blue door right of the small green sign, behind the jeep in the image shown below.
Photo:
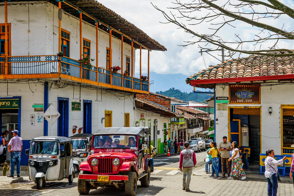
<path fill-rule="evenodd" d="M 83 133 L 92 133 L 92 101 L 83 100 Z"/>

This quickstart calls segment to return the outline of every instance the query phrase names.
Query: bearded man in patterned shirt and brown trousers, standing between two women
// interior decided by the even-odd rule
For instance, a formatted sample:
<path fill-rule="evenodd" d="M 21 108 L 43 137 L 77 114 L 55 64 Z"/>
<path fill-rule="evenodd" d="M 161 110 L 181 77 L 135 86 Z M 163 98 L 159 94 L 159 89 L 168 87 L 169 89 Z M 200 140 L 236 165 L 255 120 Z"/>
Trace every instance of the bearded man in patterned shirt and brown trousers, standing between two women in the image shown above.
<path fill-rule="evenodd" d="M 221 171 L 223 173 L 222 177 L 225 177 L 225 164 L 227 165 L 228 177 L 230 177 L 231 166 L 230 166 L 230 150 L 233 150 L 232 144 L 227 141 L 227 136 L 223 136 L 223 141 L 218 145 L 218 149 L 221 151 Z"/>

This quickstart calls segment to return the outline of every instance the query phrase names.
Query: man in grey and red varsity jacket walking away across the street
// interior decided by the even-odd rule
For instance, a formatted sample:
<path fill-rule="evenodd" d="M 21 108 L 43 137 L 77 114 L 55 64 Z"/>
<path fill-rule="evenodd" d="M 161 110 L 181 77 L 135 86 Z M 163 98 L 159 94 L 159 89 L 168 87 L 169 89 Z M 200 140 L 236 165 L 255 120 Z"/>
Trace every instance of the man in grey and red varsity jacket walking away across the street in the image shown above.
<path fill-rule="evenodd" d="M 184 143 L 185 149 L 180 153 L 180 170 L 183 172 L 183 190 L 190 191 L 189 185 L 191 182 L 191 175 L 193 167 L 196 165 L 196 155 L 193 150 L 189 148 L 189 142 Z"/>

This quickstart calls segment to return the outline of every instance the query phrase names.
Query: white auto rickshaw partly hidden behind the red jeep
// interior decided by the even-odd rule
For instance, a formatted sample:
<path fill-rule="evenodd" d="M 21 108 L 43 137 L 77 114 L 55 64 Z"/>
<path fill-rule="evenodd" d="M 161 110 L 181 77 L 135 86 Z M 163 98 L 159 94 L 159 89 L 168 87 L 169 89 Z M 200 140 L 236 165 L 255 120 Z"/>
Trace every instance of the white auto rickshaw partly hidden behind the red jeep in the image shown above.
<path fill-rule="evenodd" d="M 69 137 L 73 140 L 75 173 L 79 171 L 81 162 L 87 161 L 91 154 L 92 135 L 91 133 L 78 133 Z"/>

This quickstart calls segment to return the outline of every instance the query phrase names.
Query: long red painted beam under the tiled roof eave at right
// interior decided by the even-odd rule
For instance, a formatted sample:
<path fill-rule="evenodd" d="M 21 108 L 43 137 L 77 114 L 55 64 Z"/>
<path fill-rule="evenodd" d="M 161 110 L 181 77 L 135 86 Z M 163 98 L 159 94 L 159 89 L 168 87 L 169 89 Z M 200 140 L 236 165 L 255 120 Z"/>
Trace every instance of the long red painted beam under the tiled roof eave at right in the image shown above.
<path fill-rule="evenodd" d="M 294 74 L 276 75 L 276 76 L 253 76 L 253 77 L 240 77 L 240 78 L 219 78 L 219 79 L 206 79 L 206 80 L 190 80 L 190 84 L 195 86 L 197 84 L 217 84 L 229 82 L 250 82 L 250 81 L 266 81 L 266 80 L 285 80 L 293 79 Z"/>

